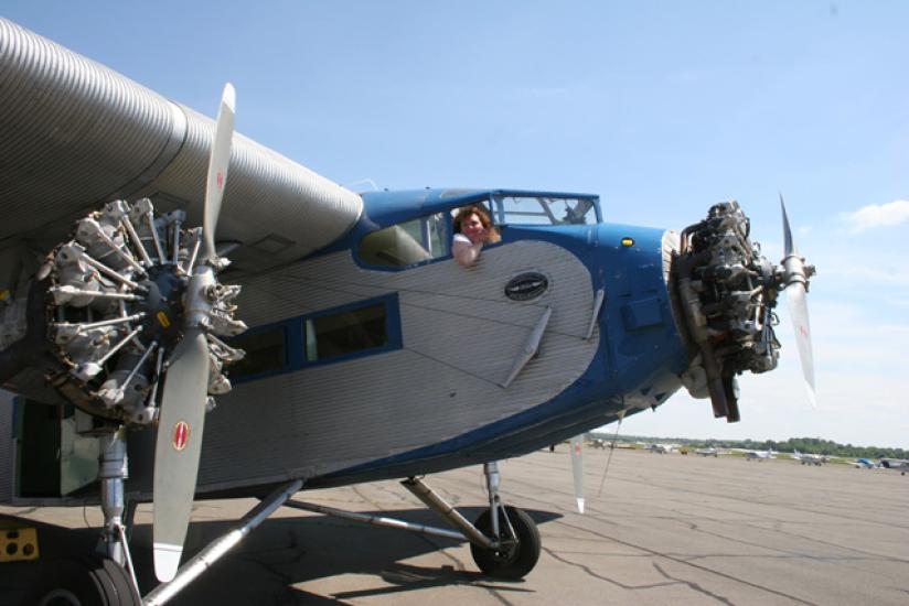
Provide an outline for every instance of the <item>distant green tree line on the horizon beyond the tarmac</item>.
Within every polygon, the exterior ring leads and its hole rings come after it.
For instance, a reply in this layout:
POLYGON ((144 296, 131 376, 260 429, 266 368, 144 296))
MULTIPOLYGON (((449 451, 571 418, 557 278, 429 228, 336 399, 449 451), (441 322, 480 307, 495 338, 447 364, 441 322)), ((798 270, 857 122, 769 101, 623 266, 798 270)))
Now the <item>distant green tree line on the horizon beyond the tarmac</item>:
MULTIPOLYGON (((596 434, 596 437, 611 440, 612 435, 596 434)), ((652 437, 641 435, 620 435, 620 442, 675 442, 695 448, 747 448, 752 451, 792 452, 819 454, 825 456, 843 456, 851 458, 909 458, 909 451, 881 446, 853 446, 838 444, 821 437, 790 437, 778 442, 776 440, 692 440, 687 437, 652 437)))

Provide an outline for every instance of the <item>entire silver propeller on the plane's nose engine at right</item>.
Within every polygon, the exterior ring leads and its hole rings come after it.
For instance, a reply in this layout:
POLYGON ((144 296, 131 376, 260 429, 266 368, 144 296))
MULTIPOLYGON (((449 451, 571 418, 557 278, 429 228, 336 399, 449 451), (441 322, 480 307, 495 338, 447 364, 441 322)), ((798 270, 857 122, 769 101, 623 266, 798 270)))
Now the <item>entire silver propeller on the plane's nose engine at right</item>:
POLYGON ((814 274, 813 266, 805 266, 803 257, 799 256, 795 245, 792 241, 792 230, 789 227, 789 217, 785 214, 785 203, 780 194, 780 208, 783 214, 783 239, 784 257, 781 262, 783 267, 783 288, 789 306, 789 315, 792 317, 792 327, 795 332, 795 345, 799 348, 799 358, 802 362, 802 375, 805 380, 808 399, 812 408, 817 408, 817 399, 814 390, 814 356, 811 350, 811 324, 808 315, 808 279, 814 274))

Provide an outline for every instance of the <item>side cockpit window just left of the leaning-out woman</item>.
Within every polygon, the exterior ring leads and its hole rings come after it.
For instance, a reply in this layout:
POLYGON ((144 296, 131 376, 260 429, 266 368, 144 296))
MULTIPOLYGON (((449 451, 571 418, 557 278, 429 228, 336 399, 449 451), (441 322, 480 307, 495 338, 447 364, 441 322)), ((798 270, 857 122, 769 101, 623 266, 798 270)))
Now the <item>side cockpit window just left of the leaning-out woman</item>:
POLYGON ((357 255, 365 264, 399 268, 447 256, 448 240, 445 214, 436 213, 373 231, 360 240, 357 255))

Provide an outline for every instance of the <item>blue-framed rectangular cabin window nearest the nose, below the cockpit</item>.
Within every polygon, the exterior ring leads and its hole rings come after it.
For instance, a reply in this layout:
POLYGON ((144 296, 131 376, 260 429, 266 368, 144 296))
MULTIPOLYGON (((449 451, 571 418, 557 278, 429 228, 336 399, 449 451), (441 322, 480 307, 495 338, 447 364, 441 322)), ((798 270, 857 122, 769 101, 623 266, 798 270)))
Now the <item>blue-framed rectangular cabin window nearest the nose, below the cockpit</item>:
POLYGON ((328 313, 304 321, 307 361, 383 347, 388 343, 385 303, 328 313))

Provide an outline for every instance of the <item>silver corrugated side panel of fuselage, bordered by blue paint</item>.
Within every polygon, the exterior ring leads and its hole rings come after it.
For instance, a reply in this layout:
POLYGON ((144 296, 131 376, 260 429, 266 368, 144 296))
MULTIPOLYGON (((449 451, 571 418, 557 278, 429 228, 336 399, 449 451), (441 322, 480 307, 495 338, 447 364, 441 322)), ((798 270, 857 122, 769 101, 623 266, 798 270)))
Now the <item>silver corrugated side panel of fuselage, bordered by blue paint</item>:
POLYGON ((339 252, 244 284, 250 325, 397 292, 403 348, 242 383, 206 419, 200 485, 325 474, 407 452, 544 403, 589 366, 585 340, 593 292, 587 269, 545 242, 491 248, 400 272, 357 267, 339 252), (504 285, 524 271, 549 278, 539 299, 515 302, 504 285), (507 388, 514 359, 545 307, 541 354, 507 388))

